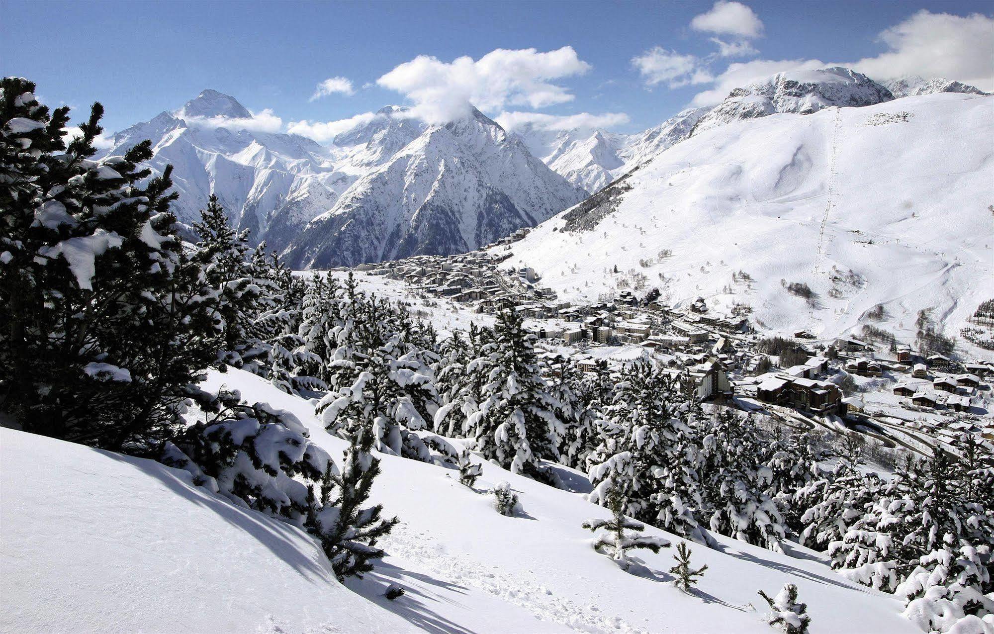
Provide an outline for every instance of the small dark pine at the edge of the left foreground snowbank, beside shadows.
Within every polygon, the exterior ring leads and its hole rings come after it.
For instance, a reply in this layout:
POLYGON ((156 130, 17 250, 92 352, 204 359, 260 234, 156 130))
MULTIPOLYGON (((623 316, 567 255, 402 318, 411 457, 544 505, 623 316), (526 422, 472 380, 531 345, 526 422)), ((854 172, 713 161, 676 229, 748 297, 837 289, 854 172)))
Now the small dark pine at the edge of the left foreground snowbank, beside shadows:
POLYGON ((398 523, 397 518, 383 519, 381 504, 362 508, 380 473, 380 460, 373 457, 372 448, 373 435, 358 429, 345 452, 341 474, 332 472, 327 478, 333 483, 333 492, 328 495, 322 490, 326 503, 309 522, 339 579, 362 577, 372 570, 370 561, 384 555, 377 542, 398 523))

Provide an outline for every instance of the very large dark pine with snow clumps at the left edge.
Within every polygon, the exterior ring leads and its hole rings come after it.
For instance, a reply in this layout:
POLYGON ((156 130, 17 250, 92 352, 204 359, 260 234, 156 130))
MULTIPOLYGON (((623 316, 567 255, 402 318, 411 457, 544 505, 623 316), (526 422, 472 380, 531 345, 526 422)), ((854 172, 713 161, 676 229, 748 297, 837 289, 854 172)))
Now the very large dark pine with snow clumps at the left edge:
POLYGON ((67 144, 25 79, 0 84, 0 382, 25 429, 155 452, 215 358, 213 300, 168 213, 148 142, 92 161, 103 108, 67 144))

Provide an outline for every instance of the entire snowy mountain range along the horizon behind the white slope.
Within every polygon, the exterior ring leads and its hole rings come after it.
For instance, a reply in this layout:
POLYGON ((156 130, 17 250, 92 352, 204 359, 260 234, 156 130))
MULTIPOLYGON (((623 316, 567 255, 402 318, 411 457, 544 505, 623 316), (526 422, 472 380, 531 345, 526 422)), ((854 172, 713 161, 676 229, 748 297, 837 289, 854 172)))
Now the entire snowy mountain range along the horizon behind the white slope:
POLYGON ((780 113, 863 106, 933 92, 984 94, 947 79, 878 83, 848 69, 780 73, 636 134, 511 131, 479 110, 429 126, 388 105, 328 145, 252 129, 235 97, 206 89, 112 137, 106 154, 151 139, 153 171, 174 166, 192 223, 211 194, 253 242, 299 268, 471 250, 573 207, 661 152, 708 129, 780 113))

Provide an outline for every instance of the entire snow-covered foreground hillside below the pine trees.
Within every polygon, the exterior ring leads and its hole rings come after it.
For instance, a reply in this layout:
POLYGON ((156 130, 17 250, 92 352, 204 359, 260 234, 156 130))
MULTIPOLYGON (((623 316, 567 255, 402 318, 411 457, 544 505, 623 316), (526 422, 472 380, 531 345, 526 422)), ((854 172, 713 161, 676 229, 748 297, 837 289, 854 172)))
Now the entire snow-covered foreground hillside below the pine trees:
MULTIPOLYGON (((323 430, 312 402, 238 370, 205 387, 222 385, 292 411, 341 456, 345 442, 323 430)), ((402 523, 384 542, 389 556, 345 588, 312 538, 193 486, 185 471, 10 429, 0 429, 0 457, 3 631, 767 634, 756 591, 785 582, 808 604, 812 634, 917 631, 899 599, 806 551, 721 537, 718 550, 693 546, 709 568, 692 594, 669 582, 674 549, 622 571, 580 528, 605 509, 489 463, 474 492, 452 470, 382 456, 374 498, 402 523), (521 499, 515 517, 485 495, 501 481, 521 499), (387 600, 390 583, 407 594, 387 600)))

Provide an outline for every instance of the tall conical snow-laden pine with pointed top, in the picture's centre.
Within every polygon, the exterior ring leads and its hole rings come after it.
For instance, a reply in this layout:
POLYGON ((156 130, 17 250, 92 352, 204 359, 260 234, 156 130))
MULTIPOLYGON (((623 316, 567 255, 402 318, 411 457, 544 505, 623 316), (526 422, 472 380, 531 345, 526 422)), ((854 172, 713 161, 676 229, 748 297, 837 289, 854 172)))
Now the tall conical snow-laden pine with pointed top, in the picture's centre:
POLYGON ((555 473, 539 460, 559 458, 563 424, 542 376, 534 338, 524 331, 516 311, 500 312, 494 341, 483 347, 484 360, 470 364, 471 372, 480 366, 489 372, 479 408, 468 416, 467 435, 475 439, 477 451, 500 466, 556 484, 555 473))

